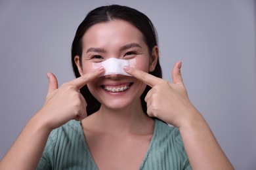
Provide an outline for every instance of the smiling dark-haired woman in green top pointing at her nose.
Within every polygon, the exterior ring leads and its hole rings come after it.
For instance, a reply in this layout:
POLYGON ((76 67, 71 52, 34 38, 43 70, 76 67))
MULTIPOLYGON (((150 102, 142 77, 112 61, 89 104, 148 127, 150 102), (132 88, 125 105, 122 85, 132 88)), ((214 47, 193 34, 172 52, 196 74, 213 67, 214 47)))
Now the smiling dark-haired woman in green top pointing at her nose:
POLYGON ((72 44, 77 78, 58 88, 47 74, 45 105, 1 169, 233 169, 188 99, 181 62, 167 82, 158 56, 154 25, 141 12, 119 5, 89 12, 72 44), (110 58, 133 59, 122 68, 131 76, 94 67, 110 58))

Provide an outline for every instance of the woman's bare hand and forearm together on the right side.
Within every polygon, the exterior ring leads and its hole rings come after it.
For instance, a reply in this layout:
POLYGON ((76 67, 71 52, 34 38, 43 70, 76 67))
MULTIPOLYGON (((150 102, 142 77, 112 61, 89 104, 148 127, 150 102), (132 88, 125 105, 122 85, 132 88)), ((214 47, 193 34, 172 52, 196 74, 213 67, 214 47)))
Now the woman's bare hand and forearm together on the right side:
POLYGON ((203 116, 188 99, 181 62, 173 67, 173 83, 138 69, 124 70, 152 87, 145 97, 148 115, 179 127, 192 169, 234 169, 203 116))

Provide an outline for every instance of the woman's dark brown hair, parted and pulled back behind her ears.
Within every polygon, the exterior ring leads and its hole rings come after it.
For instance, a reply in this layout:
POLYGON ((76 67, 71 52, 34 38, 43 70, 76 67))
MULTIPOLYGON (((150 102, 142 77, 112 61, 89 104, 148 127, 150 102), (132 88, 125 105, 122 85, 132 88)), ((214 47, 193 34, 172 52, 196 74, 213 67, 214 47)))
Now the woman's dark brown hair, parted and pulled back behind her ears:
MULTIPOLYGON (((85 17, 83 22, 81 22, 75 33, 74 41, 72 43, 72 66, 76 77, 79 77, 80 74, 77 69, 77 65, 75 64, 75 56, 79 56, 81 63, 83 35, 92 25, 102 22, 109 22, 111 20, 125 20, 137 27, 137 29, 139 29, 144 35, 144 41, 148 46, 149 54, 152 54, 154 46, 158 46, 158 36, 154 25, 152 24, 150 19, 139 10, 120 5, 98 7, 94 10, 91 10, 91 12, 87 14, 87 16, 85 17)), ((150 72, 150 74, 161 78, 162 73, 159 59, 156 64, 155 70, 150 72)), ((150 86, 146 86, 144 92, 140 96, 142 109, 145 113, 146 102, 144 101, 144 97, 150 89, 150 86)), ((95 99, 95 97, 93 97, 91 92, 89 92, 87 86, 85 85, 83 88, 81 88, 80 92, 87 101, 87 114, 90 115, 93 114, 93 112, 96 112, 100 108, 100 103, 95 99)))

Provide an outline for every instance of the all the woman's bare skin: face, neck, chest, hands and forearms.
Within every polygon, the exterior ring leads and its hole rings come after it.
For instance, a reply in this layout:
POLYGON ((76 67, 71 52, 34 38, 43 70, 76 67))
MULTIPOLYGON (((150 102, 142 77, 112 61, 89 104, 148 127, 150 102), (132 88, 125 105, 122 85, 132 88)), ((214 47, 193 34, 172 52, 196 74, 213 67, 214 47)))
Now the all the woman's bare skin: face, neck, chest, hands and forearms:
POLYGON ((179 127, 193 169, 233 169, 211 129, 188 98, 181 62, 173 67, 173 82, 149 75, 148 71, 156 66, 158 47, 150 54, 136 27, 122 20, 93 25, 83 36, 81 58, 80 63, 79 56, 75 57, 81 77, 60 88, 56 77, 47 74, 49 92, 45 105, 24 127, 1 160, 0 169, 35 169, 51 131, 72 119, 81 120, 87 144, 100 169, 138 169, 154 131, 150 116, 179 127), (127 48, 127 44, 139 46, 127 48), (104 68, 92 68, 93 62, 111 57, 135 58, 135 68, 123 68, 132 76, 100 76, 104 68), (102 103, 91 116, 87 116, 87 103, 79 93, 85 84, 102 103), (106 92, 102 88, 123 84, 132 86, 121 93, 106 92), (152 87, 145 97, 148 116, 142 111, 139 99, 146 84, 152 87))

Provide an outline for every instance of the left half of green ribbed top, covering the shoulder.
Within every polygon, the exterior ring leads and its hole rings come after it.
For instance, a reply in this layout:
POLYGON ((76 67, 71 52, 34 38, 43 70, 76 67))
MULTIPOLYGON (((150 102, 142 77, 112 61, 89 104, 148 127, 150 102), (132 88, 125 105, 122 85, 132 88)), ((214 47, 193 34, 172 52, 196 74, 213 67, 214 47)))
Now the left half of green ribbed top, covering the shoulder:
POLYGON ((38 169, 52 169, 52 167, 55 169, 95 167, 80 122, 70 120, 51 132, 38 169))

